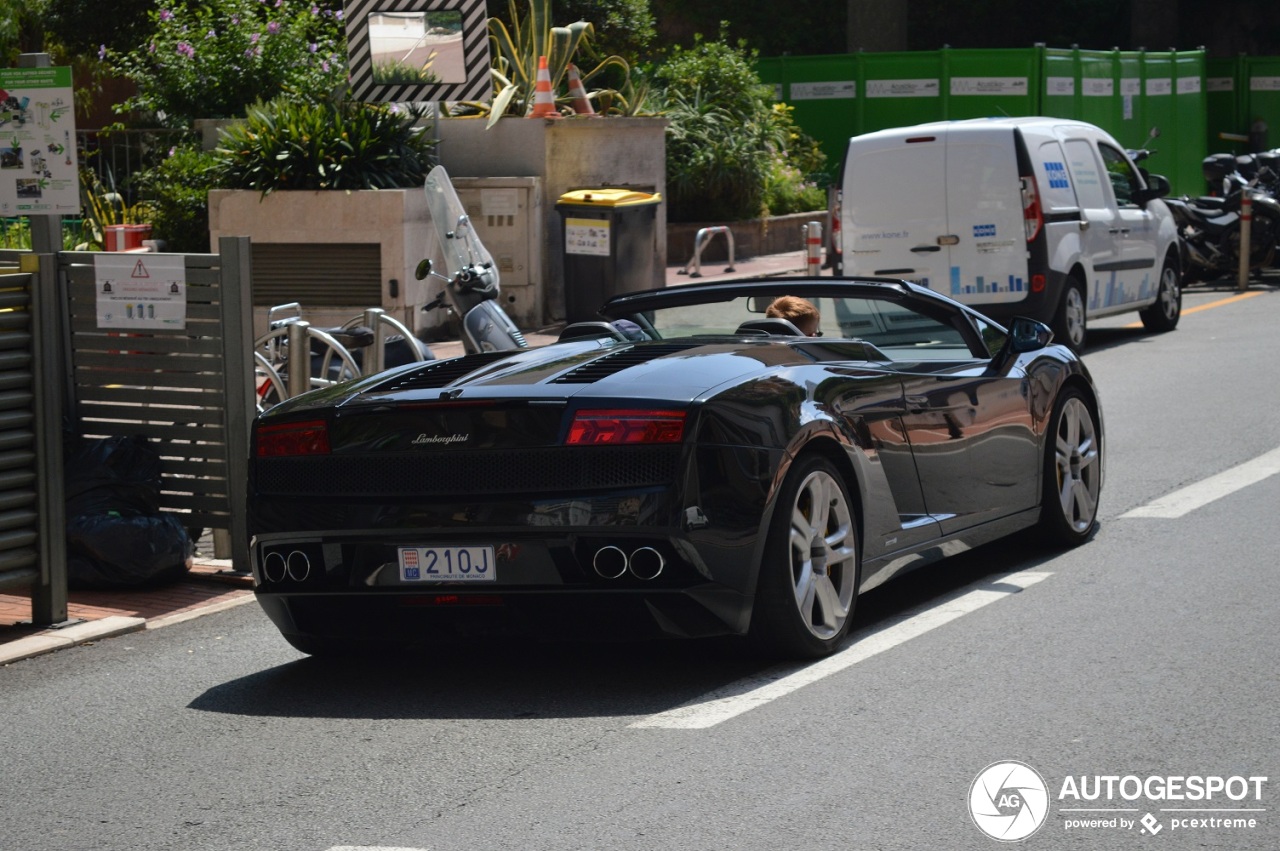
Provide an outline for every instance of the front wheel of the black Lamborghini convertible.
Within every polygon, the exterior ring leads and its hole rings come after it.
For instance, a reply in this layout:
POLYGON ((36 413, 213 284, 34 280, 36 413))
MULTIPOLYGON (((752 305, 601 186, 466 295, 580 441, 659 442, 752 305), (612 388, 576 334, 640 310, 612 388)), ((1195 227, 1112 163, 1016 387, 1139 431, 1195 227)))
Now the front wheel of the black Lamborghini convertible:
POLYGON ((1050 544, 1075 546, 1088 540, 1097 526, 1101 434, 1097 413, 1084 393, 1076 388, 1062 390, 1044 433, 1039 531, 1050 544))

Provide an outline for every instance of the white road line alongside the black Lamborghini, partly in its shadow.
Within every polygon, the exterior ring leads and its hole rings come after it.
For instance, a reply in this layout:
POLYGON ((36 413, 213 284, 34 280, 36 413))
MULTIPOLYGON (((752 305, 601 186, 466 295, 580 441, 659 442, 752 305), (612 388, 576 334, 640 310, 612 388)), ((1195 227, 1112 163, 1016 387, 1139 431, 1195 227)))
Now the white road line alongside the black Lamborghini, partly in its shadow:
POLYGON ((763 706, 771 700, 777 700, 824 677, 840 673, 845 668, 896 648, 964 614, 975 612, 988 603, 1016 594, 1050 576, 1052 573, 1043 571, 1019 571, 997 576, 972 591, 931 605, 918 614, 909 614, 876 632, 855 636, 846 649, 820 662, 799 669, 787 665, 764 671, 759 676, 739 680, 723 688, 717 688, 684 706, 643 718, 630 727, 662 729, 714 727, 756 706, 763 706))

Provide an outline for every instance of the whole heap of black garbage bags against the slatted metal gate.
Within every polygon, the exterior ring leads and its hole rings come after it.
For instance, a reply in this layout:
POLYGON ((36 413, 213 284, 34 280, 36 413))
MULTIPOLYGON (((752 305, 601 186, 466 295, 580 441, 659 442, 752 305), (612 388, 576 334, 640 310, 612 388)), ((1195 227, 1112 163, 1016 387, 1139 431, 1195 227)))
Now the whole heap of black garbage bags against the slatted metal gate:
POLYGON ((195 544, 160 512, 160 454, 146 438, 69 441, 67 580, 74 589, 159 585, 191 569, 195 544))

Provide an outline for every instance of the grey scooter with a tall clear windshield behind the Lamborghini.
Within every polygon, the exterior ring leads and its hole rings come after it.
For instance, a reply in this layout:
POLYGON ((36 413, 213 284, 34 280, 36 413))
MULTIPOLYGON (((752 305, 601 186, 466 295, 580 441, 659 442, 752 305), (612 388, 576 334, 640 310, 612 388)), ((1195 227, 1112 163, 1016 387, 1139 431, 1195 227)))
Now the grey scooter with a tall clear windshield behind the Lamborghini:
POLYGON ((436 278, 444 289, 422 310, 448 310, 462 326, 462 348, 468 354, 529 348, 525 335, 498 303, 498 267, 480 242, 471 219, 449 180, 438 165, 426 175, 426 206, 440 241, 448 275, 434 271, 430 257, 417 264, 415 278, 436 278))

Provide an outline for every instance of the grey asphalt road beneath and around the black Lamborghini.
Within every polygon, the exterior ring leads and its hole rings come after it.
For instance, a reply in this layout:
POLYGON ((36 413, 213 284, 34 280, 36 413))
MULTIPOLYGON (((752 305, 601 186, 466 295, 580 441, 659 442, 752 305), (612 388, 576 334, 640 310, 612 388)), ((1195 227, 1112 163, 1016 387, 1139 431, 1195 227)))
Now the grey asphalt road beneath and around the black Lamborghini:
POLYGON ((890 584, 832 660, 333 664, 241 607, 0 668, 0 848, 1280 848, 1280 290, 1234 296, 1094 325, 1091 543, 890 584))

